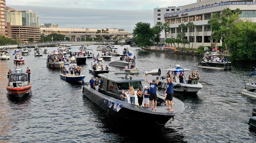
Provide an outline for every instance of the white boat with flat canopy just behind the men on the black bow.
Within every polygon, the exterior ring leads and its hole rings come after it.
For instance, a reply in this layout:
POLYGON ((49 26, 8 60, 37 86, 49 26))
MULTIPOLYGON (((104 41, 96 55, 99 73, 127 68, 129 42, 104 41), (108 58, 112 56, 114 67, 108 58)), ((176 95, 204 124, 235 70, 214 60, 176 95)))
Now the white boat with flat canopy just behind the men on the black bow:
MULTIPOLYGON (((174 83, 173 83, 174 92, 196 94, 201 88, 203 88, 202 84, 199 82, 197 84, 188 84, 188 80, 185 80, 184 71, 188 71, 190 69, 184 69, 180 67, 180 65, 176 65, 176 68, 170 68, 165 70, 170 71, 170 74, 174 74, 174 83), (180 83, 180 80, 178 78, 181 72, 184 75, 184 83, 180 83)), ((162 79, 160 80, 157 87, 158 89, 161 89, 161 88, 166 89, 166 85, 167 85, 167 80, 162 79)))

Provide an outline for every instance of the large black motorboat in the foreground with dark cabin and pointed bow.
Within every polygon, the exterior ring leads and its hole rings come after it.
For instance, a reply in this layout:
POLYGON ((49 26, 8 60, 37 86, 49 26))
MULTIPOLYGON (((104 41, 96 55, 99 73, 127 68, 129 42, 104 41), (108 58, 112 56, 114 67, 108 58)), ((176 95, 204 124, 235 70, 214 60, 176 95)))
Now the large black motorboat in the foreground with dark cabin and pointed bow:
MULTIPOLYGON (((133 86, 135 94, 137 88, 143 90, 143 78, 132 76, 128 74, 99 74, 101 84, 98 91, 90 86, 83 86, 83 96, 98 105, 106 114, 113 116, 113 118, 120 118, 127 120, 127 122, 139 122, 140 124, 147 124, 148 126, 163 128, 165 124, 174 116, 182 114, 186 106, 182 101, 173 98, 174 111, 170 112, 165 109, 167 106, 157 105, 157 109, 150 109, 150 107, 139 107, 137 96, 135 96, 135 105, 130 103, 130 99, 121 99, 121 91, 128 90, 129 86, 133 86), (150 120, 145 120, 150 119, 150 120)), ((158 99, 165 97, 157 94, 158 99)), ((143 104, 142 104, 143 105, 143 104)))

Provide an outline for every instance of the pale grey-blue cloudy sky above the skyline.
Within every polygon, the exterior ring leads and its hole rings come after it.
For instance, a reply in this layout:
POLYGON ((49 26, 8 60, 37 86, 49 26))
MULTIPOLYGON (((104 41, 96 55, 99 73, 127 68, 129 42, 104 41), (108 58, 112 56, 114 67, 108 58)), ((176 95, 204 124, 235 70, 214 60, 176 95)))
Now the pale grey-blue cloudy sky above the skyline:
POLYGON ((196 0, 6 0, 19 11, 32 10, 39 23, 59 24, 59 28, 124 29, 138 22, 154 26, 154 8, 183 6, 196 0))

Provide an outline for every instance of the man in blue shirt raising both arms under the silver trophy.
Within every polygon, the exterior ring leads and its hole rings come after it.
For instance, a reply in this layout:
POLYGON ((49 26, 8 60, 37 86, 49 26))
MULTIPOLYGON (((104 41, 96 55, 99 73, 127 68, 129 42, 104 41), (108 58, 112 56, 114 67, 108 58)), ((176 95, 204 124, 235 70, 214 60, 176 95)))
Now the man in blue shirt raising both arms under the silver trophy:
POLYGON ((156 80, 152 80, 152 82, 150 82, 148 80, 148 74, 146 75, 146 80, 147 80, 148 84, 150 84, 150 101, 151 101, 151 106, 152 106, 150 109, 154 108, 154 102, 153 102, 153 100, 154 100, 155 101, 155 110, 156 110, 156 105, 157 105, 156 88, 160 81, 160 77, 161 77, 161 75, 159 75, 157 82, 156 82, 156 80))

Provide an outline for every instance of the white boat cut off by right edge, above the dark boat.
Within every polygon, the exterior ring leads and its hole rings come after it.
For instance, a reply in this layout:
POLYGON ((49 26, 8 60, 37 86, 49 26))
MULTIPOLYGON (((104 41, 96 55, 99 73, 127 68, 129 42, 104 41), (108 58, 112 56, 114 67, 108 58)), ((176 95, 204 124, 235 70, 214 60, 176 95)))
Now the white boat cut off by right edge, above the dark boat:
POLYGON ((252 80, 252 76, 256 76, 256 71, 248 73, 249 82, 241 88, 241 94, 256 98, 256 82, 252 80))

